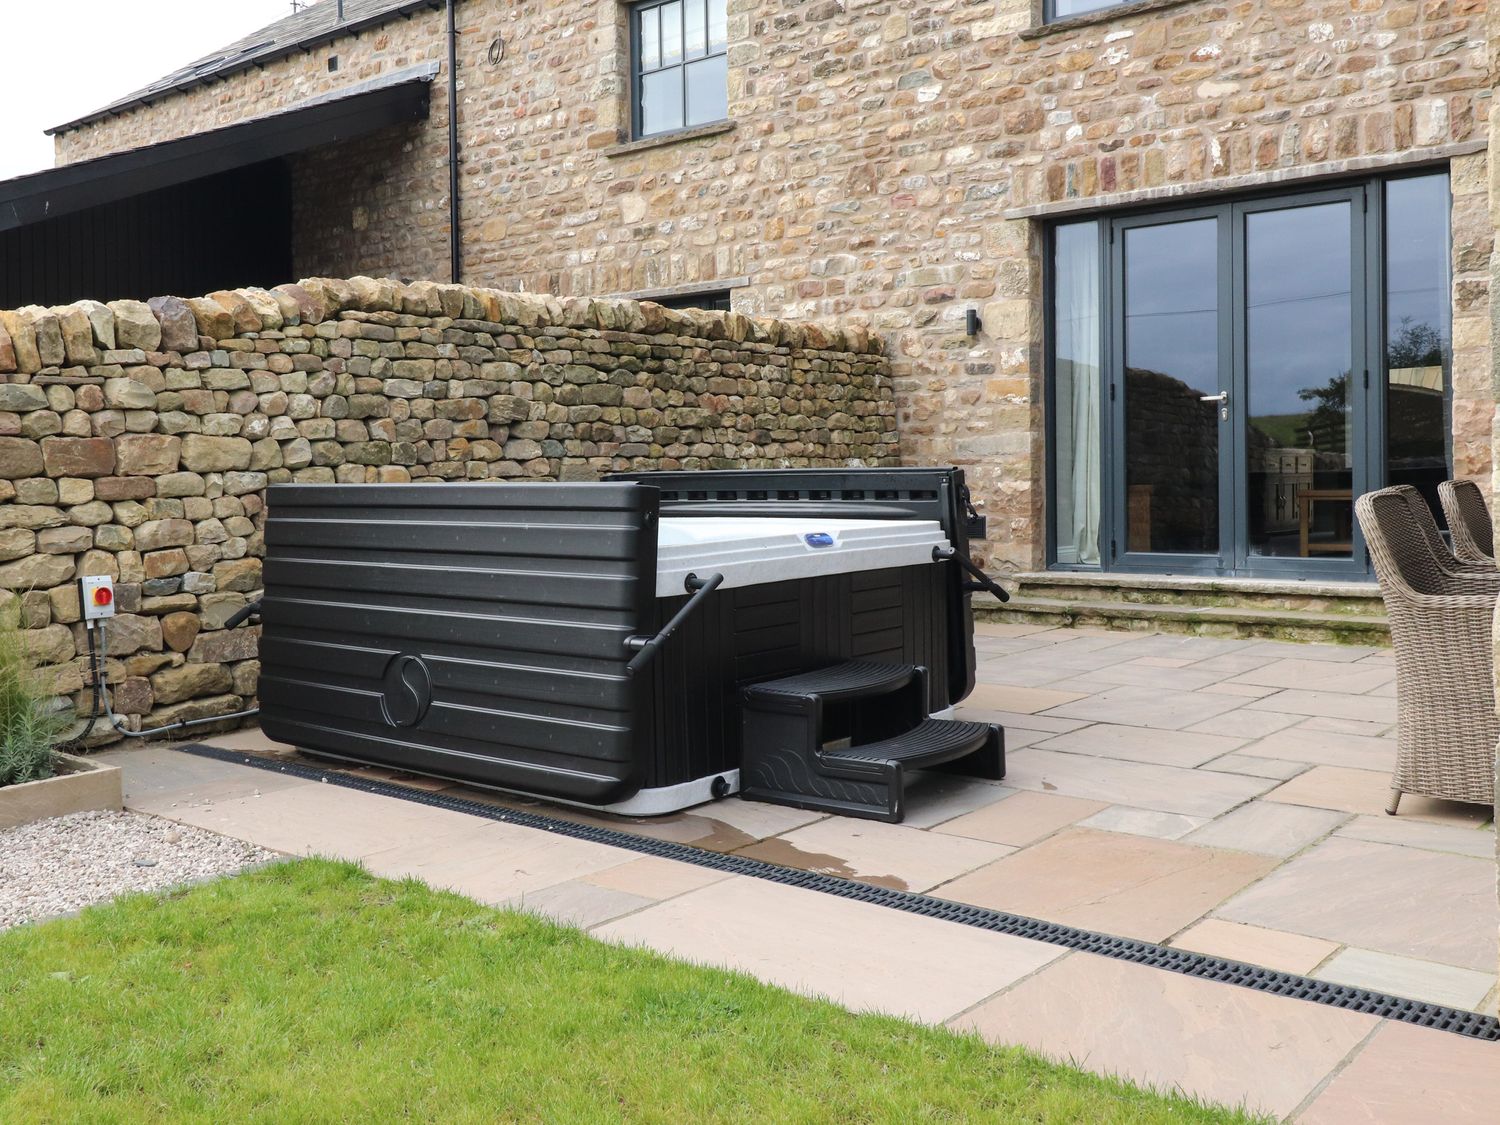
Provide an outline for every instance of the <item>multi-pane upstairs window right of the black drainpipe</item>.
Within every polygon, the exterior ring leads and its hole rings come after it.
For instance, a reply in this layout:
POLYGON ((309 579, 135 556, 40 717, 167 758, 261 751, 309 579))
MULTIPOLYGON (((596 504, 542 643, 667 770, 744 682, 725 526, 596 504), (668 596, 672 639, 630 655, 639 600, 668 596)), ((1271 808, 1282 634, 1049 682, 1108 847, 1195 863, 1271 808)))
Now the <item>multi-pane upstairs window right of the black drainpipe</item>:
POLYGON ((729 116, 726 0, 630 9, 634 135, 657 136, 729 116))

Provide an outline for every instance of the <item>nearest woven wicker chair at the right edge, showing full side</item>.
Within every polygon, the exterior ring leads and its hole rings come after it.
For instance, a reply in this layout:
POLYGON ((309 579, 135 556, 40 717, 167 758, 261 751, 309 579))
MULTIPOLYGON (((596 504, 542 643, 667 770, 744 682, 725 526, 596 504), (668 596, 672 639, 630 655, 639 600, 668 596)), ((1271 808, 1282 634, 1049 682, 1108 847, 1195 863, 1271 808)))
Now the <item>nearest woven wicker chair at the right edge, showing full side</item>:
POLYGON ((1402 794, 1494 804, 1500 570, 1444 567, 1410 492, 1382 489, 1354 502, 1396 657, 1396 768, 1386 812, 1395 814, 1402 794))

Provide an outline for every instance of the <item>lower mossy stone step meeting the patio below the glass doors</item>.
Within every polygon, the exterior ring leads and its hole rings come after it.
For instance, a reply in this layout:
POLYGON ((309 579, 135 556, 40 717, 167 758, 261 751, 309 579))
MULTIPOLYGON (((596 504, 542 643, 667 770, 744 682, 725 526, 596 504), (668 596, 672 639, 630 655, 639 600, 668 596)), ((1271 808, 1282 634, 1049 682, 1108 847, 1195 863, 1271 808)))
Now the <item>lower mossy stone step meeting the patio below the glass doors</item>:
POLYGON ((975 596, 974 614, 980 621, 1010 621, 1017 624, 1100 626, 1140 633, 1390 645, 1390 622, 1386 621, 1384 615, 1372 614, 1106 602, 1094 597, 1058 598, 1022 594, 1004 604, 990 597, 981 598, 975 596))

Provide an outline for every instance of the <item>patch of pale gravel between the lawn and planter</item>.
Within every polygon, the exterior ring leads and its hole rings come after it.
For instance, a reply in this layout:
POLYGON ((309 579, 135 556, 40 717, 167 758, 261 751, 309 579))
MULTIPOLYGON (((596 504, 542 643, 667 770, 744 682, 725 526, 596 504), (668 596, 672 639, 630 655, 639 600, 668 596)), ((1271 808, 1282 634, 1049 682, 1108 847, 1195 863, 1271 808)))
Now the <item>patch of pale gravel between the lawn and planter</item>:
POLYGON ((0 832, 0 930, 232 874, 274 852, 140 813, 74 813, 0 832))

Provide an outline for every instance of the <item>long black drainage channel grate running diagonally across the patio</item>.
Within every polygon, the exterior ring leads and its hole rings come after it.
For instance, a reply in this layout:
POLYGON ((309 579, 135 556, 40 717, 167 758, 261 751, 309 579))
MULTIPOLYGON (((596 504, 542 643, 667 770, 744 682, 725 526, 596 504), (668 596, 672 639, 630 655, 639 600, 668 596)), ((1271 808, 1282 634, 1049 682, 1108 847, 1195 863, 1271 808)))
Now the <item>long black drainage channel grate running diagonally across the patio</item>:
POLYGON ((612 848, 640 852, 642 855, 652 855, 662 860, 678 860, 696 867, 708 867, 716 872, 744 874, 752 879, 765 879, 768 882, 784 884, 788 886, 801 886, 807 891, 819 891, 822 894, 837 896, 838 898, 852 898, 861 903, 885 906, 892 910, 921 915, 922 918, 939 918, 946 922, 972 926, 976 930, 990 930, 992 933, 1005 933, 1014 938, 1029 938, 1030 940, 1046 942, 1047 945, 1059 945, 1065 950, 1078 950, 1082 952, 1095 952, 1101 957, 1113 957, 1120 962, 1149 964, 1156 969, 1179 972, 1185 976, 1200 976, 1209 981, 1238 984, 1244 988, 1268 992, 1274 996, 1290 996, 1299 1000, 1323 1004, 1330 1008, 1344 1008, 1346 1011, 1378 1016, 1386 1020, 1413 1023, 1419 1028, 1436 1028, 1438 1030, 1454 1032, 1455 1035, 1466 1035, 1473 1040, 1500 1042, 1500 1020, 1494 1016, 1480 1016, 1479 1012, 1462 1011, 1460 1008, 1444 1008, 1437 1004, 1408 1000, 1388 993, 1353 988, 1347 984, 1314 981, 1308 976, 1276 972, 1274 969, 1262 969, 1254 964, 1224 960, 1222 957, 1208 957, 1186 950, 1172 950, 1164 945, 1136 940, 1134 938, 1114 938, 1107 933, 1078 930, 1071 926, 1041 921, 1040 918, 1026 918, 1018 914, 1005 914, 1004 910, 990 910, 982 906, 969 906, 966 903, 952 903, 945 898, 933 898, 914 891, 896 891, 888 886, 874 886, 872 884, 855 882, 854 879, 842 879, 836 874, 802 872, 796 867, 782 867, 778 864, 765 862, 764 860, 750 860, 742 855, 708 852, 702 848, 693 848, 692 844, 676 843, 674 840, 654 840, 645 836, 633 836, 632 832, 626 832, 618 828, 600 828, 597 825, 576 824, 573 820, 562 820, 518 808, 501 808, 480 801, 466 801, 462 796, 448 796, 446 794, 429 794, 422 789, 411 789, 394 782, 376 782, 366 777, 351 777, 336 770, 320 770, 316 766, 302 765, 297 762, 279 762, 270 758, 256 758, 237 750, 220 750, 213 746, 192 744, 176 748, 183 753, 196 754, 198 758, 234 762, 255 770, 267 770, 270 772, 286 774, 290 777, 302 777, 309 782, 324 782, 345 789, 378 794, 380 796, 394 796, 400 801, 414 801, 417 804, 432 806, 434 808, 468 813, 471 816, 482 816, 488 820, 501 820, 522 828, 537 828, 543 832, 555 832, 574 840, 609 844, 612 848))

